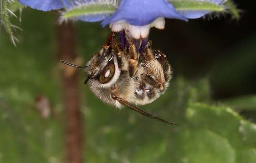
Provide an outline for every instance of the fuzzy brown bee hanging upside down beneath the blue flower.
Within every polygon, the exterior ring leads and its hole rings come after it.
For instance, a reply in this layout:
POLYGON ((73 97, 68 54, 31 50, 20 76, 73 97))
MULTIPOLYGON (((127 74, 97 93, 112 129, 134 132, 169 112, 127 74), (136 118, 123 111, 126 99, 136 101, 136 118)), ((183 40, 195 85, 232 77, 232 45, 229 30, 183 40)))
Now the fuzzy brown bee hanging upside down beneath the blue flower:
POLYGON ((177 125, 137 107, 155 101, 169 86, 172 71, 164 53, 151 48, 150 41, 138 53, 135 41, 128 35, 125 47, 116 42, 115 36, 116 33, 110 33, 106 43, 86 66, 61 62, 85 69, 87 78, 84 83, 105 103, 117 108, 126 106, 149 118, 177 125))

